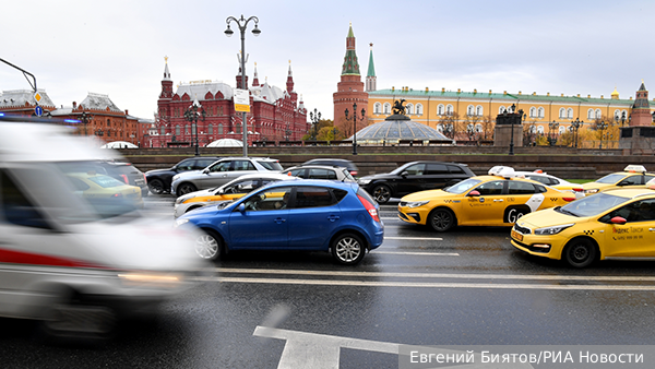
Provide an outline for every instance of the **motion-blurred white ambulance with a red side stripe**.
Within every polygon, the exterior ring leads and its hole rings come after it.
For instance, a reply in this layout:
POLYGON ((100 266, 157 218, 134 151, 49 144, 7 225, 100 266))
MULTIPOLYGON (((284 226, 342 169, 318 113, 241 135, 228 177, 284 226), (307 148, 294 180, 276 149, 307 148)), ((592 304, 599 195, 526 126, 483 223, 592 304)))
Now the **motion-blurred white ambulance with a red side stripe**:
POLYGON ((117 154, 41 121, 0 114, 0 317, 39 320, 55 337, 107 337, 120 318, 195 284, 196 234, 145 218, 127 197, 80 197, 70 163, 117 154))

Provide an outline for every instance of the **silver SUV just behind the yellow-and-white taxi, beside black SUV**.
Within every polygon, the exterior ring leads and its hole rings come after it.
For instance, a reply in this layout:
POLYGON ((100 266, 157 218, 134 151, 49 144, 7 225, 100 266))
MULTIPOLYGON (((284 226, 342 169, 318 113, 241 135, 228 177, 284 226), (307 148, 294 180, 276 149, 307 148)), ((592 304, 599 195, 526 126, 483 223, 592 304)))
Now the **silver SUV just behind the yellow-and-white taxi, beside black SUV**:
POLYGON ((203 170, 180 172, 172 177, 170 193, 178 197, 223 186, 233 179, 258 171, 281 171, 279 160, 267 157, 225 157, 203 170))

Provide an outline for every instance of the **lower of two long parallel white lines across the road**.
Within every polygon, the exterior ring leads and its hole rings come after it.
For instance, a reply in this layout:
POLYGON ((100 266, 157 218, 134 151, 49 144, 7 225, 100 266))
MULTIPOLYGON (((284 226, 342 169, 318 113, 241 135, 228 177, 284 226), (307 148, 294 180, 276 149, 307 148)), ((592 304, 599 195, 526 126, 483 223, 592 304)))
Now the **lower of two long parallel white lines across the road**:
POLYGON ((326 281, 326 279, 283 279, 283 278, 236 278, 199 277, 198 281, 221 283, 255 283, 306 286, 348 286, 348 287, 418 287, 418 288, 481 288, 481 289, 555 289, 555 290, 654 290, 655 286, 630 285, 538 285, 538 284, 491 284, 491 283, 418 283, 418 282, 373 282, 373 281, 326 281))

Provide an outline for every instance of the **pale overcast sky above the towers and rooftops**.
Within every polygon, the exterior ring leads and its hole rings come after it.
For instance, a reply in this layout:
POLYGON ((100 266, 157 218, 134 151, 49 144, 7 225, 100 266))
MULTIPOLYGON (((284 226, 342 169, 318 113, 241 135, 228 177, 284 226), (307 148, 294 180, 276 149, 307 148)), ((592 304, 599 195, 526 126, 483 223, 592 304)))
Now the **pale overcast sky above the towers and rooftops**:
MULTIPOLYGON (((655 1, 76 1, 2 4, 0 58, 36 76, 57 107, 88 92, 108 95, 130 115, 152 119, 164 57, 175 85, 212 80, 236 85, 239 31, 248 25, 246 71, 295 90, 309 110, 333 118, 348 25, 365 80, 373 43, 378 90, 634 96, 655 90, 655 1)), ((29 90, 0 63, 0 91, 29 90)), ((652 93, 655 97, 655 93, 652 93)))

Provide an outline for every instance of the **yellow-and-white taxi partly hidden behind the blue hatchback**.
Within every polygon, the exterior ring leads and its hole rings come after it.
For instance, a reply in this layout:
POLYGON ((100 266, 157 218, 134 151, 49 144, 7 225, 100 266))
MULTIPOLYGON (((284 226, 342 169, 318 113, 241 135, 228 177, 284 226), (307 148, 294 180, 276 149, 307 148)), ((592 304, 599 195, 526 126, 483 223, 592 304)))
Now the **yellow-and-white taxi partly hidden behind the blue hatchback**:
POLYGON ((226 201, 229 202, 240 199, 250 191, 271 182, 296 179, 300 178, 278 172, 260 171, 251 175, 245 175, 218 188, 215 187, 209 190, 200 190, 177 198, 175 201, 175 217, 177 218, 187 212, 205 205, 218 204, 226 201))

